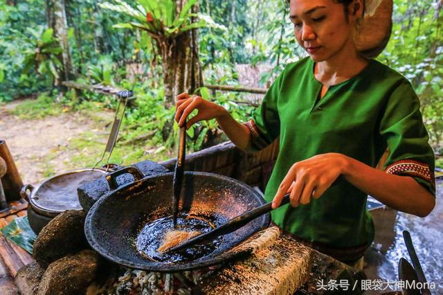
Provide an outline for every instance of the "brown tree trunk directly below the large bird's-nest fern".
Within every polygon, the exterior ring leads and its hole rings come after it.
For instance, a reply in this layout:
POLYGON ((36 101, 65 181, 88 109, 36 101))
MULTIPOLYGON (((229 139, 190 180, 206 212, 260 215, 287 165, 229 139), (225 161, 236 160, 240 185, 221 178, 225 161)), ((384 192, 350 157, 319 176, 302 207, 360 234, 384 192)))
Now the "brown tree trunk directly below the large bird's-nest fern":
MULTIPOLYGON (((177 11, 186 1, 177 0, 177 11)), ((198 12, 198 5, 192 12, 198 12)), ((175 105, 177 95, 183 91, 192 92, 201 86, 201 68, 199 62, 199 47, 197 30, 189 30, 178 37, 159 39, 158 45, 162 57, 163 84, 165 87, 165 107, 170 109, 175 105)))

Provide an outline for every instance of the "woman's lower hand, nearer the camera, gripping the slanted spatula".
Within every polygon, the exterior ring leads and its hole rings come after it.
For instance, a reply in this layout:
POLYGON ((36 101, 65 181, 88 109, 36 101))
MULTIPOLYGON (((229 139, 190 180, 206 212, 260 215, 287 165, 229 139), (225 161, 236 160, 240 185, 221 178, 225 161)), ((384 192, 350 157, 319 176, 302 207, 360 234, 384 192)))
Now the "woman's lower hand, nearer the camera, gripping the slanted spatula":
POLYGON ((272 208, 280 206, 285 194, 291 193, 291 206, 308 204, 318 199, 339 177, 346 164, 346 156, 338 153, 318 154, 289 168, 272 200, 272 208))

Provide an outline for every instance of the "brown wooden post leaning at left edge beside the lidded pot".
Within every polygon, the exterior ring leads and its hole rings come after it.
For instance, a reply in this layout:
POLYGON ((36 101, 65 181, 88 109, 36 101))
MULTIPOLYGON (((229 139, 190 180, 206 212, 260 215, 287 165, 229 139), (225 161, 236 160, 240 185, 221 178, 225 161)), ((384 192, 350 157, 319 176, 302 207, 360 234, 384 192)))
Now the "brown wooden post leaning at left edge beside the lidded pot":
POLYGON ((0 157, 6 162, 6 175, 1 178, 1 184, 3 184, 3 190, 6 195, 6 201, 17 201, 21 199, 20 190, 23 186, 21 181, 19 171, 15 166, 14 159, 8 150, 8 145, 6 141, 0 139, 0 157))

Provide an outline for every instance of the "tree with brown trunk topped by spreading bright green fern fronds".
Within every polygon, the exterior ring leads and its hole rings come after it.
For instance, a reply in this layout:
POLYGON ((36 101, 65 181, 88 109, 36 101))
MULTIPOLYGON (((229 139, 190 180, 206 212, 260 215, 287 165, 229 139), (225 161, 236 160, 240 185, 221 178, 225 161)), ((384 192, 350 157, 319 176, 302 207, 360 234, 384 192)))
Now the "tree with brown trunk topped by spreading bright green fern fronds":
POLYGON ((121 0, 101 3, 107 8, 129 15, 136 22, 116 24, 116 28, 145 30, 161 56, 165 107, 171 108, 182 91, 202 84, 197 28, 216 26, 210 17, 199 14, 197 0, 137 0, 137 8, 121 0))

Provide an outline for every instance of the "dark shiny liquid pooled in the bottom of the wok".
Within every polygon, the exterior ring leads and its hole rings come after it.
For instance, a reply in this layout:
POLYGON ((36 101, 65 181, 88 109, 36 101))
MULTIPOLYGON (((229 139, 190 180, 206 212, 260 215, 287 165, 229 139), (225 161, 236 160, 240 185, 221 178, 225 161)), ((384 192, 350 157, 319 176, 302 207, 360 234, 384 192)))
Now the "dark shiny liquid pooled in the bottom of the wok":
POLYGON ((159 218, 146 224, 138 233, 136 248, 139 253, 161 262, 186 262, 204 257, 212 253, 221 243, 221 237, 207 243, 197 244, 180 251, 159 251, 165 242, 165 235, 170 231, 199 231, 206 233, 215 228, 208 217, 180 214, 174 228, 172 216, 159 218))

